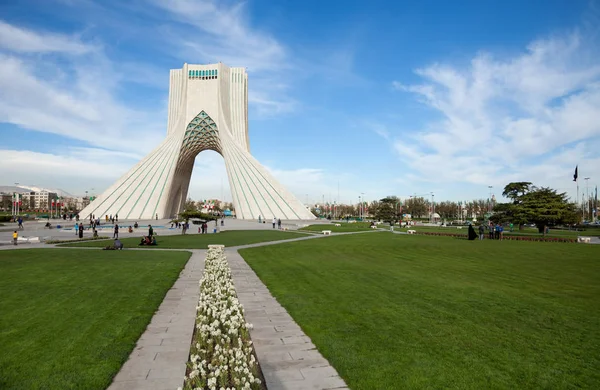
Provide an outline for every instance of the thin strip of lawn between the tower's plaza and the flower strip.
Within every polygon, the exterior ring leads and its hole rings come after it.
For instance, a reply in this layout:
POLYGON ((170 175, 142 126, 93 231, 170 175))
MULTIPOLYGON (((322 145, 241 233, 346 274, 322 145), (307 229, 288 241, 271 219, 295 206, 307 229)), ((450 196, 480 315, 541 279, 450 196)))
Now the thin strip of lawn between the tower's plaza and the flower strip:
MULTIPOLYGON (((144 233, 147 234, 147 232, 144 233)), ((140 234, 138 232, 135 237, 122 238, 121 242, 125 248, 137 248, 144 233, 140 234)), ((129 233, 121 234, 121 237, 127 237, 128 234, 129 233)), ((285 232, 280 230, 230 230, 218 234, 178 234, 175 236, 157 236, 157 246, 140 246, 139 248, 205 249, 208 247, 208 245, 213 244, 238 246, 255 244, 257 242, 289 240, 304 236, 306 236, 305 233, 285 232)), ((69 243, 62 246, 105 247, 111 243, 112 240, 98 240, 69 243)))

